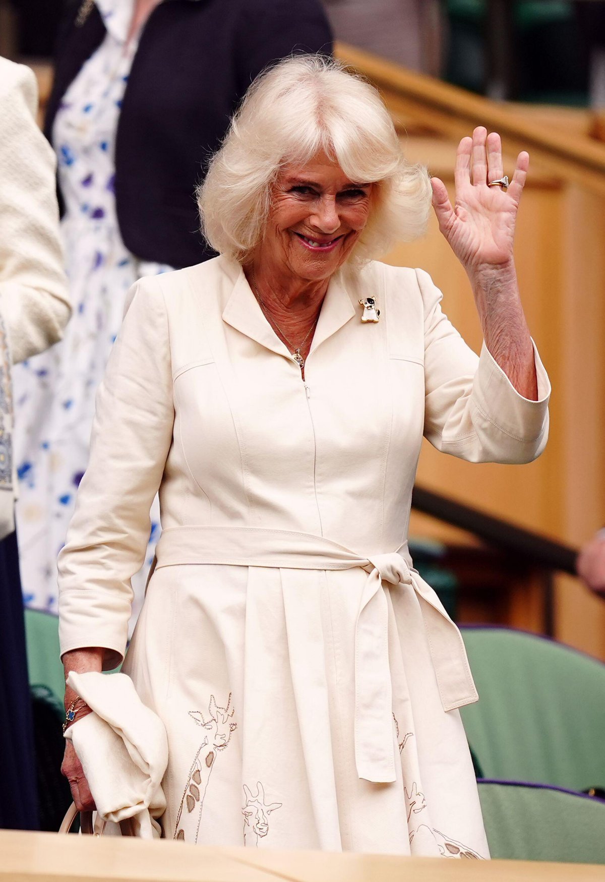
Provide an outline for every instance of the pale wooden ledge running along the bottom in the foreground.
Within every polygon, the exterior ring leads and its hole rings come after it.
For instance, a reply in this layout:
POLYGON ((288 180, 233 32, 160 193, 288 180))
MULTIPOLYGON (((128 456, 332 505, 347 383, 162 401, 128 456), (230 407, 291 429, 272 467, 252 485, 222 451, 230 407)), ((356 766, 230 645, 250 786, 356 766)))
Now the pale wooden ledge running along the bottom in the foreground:
POLYGON ((205 848, 172 841, 0 830, 6 882, 596 882, 603 868, 537 861, 205 848))

